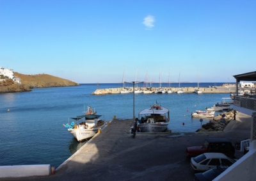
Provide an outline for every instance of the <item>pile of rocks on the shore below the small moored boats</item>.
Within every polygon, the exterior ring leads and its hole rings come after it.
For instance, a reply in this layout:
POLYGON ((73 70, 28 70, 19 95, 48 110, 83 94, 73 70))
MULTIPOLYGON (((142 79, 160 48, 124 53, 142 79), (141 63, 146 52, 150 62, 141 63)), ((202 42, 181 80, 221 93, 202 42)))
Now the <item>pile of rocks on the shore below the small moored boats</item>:
MULTIPOLYGON (((236 114, 238 111, 236 111, 236 114)), ((209 132, 209 131, 222 131, 228 125, 230 120, 234 118, 234 110, 218 114, 209 123, 202 125, 202 129, 196 130, 196 132, 209 132), (225 114, 225 122, 222 123, 222 115, 225 114)))

